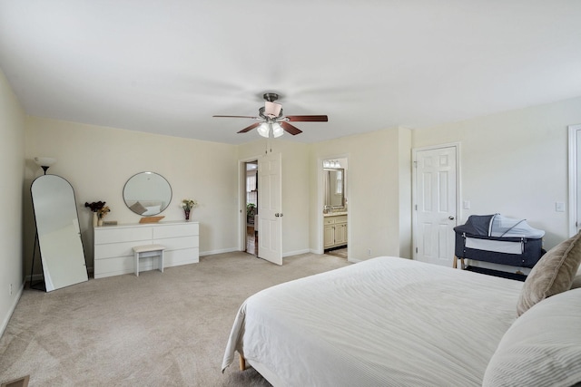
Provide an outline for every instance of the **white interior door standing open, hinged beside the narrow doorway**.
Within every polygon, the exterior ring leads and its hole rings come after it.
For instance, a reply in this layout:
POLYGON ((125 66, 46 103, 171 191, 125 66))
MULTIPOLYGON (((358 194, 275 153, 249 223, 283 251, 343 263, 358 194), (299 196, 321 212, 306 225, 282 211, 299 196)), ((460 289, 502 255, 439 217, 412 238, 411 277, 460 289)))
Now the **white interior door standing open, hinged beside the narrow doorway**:
POLYGON ((258 160, 258 256, 282 265, 281 153, 258 160))

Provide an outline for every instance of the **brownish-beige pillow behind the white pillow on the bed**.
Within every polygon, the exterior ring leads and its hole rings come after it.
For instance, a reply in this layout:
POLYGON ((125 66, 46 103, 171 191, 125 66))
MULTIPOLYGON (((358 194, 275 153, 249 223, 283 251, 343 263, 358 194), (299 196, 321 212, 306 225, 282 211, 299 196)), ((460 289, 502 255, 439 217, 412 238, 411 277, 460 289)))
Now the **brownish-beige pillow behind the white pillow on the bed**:
POLYGON ((571 288, 581 262, 581 233, 547 251, 525 280, 517 303, 517 314, 551 295, 571 288))

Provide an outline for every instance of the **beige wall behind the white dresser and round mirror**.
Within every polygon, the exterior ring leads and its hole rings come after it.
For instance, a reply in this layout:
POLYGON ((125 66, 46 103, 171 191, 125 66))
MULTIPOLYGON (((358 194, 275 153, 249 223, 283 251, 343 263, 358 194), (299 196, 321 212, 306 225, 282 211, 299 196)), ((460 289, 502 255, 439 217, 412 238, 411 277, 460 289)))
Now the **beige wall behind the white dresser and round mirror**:
MULTIPOLYGON (((238 248, 238 178, 233 145, 28 117, 25 148, 27 187, 42 174, 32 161, 34 156, 55 157, 57 162, 49 173, 62 176, 73 186, 89 267, 93 266, 92 214, 84 203, 106 201, 111 208, 106 220, 138 222, 141 217, 123 203, 123 185, 145 170, 161 174, 172 186, 172 202, 161 214, 163 220, 183 218, 183 198, 200 202, 192 220, 200 222, 201 255, 238 248)), ((28 213, 27 265, 34 242, 30 209, 28 213)))

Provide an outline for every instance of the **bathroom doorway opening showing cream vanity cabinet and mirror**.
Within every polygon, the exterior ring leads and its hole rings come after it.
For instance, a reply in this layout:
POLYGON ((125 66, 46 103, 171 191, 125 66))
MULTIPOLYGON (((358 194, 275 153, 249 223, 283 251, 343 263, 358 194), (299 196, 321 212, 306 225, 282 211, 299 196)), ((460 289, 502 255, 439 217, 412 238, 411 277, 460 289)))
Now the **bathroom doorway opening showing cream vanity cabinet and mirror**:
POLYGON ((349 199, 347 158, 322 160, 322 243, 329 256, 348 258, 349 199))

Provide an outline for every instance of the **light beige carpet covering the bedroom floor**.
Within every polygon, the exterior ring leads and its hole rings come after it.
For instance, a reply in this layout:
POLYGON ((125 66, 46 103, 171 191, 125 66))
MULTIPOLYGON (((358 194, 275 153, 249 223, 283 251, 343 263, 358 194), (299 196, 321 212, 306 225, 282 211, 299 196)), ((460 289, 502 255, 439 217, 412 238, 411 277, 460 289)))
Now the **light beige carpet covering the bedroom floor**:
POLYGON ((30 374, 31 386, 268 386, 238 363, 221 372, 239 306, 271 285, 347 265, 304 254, 276 266, 228 253, 164 273, 26 289, 0 338, 0 382, 30 374))

